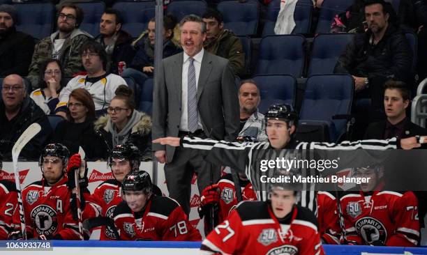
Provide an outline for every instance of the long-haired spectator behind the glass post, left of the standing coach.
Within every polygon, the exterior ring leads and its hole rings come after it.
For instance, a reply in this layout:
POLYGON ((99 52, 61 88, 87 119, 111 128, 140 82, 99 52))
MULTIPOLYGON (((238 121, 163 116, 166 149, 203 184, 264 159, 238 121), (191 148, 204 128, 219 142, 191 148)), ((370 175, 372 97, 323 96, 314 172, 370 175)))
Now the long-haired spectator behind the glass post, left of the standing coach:
MULTIPOLYGON (((177 20, 172 15, 163 17, 163 59, 181 52, 181 47, 174 42, 174 27, 177 20)), ((133 77, 137 84, 144 84, 148 77, 153 77, 154 73, 154 42, 156 40, 156 22, 151 19, 147 31, 132 42, 137 53, 130 63, 130 68, 126 68, 123 76, 133 77)))

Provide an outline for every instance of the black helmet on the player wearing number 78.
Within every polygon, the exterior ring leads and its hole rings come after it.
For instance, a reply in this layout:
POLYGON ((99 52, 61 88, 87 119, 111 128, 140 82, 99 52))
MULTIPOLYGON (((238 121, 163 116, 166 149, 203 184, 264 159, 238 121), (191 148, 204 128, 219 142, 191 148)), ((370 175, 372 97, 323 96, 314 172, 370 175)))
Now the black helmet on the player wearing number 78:
POLYGON ((121 190, 123 191, 142 191, 147 195, 153 192, 153 183, 149 173, 144 170, 130 172, 123 179, 121 183, 121 190))

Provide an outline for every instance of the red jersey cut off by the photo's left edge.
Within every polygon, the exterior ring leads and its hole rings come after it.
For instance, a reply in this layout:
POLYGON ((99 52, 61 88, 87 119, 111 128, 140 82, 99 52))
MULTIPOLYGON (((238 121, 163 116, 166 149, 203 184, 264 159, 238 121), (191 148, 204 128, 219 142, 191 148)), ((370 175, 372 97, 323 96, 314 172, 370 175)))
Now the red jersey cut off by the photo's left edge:
POLYGON ((13 213, 18 204, 15 183, 10 180, 0 180, 0 197, 0 240, 6 240, 15 227, 13 213))

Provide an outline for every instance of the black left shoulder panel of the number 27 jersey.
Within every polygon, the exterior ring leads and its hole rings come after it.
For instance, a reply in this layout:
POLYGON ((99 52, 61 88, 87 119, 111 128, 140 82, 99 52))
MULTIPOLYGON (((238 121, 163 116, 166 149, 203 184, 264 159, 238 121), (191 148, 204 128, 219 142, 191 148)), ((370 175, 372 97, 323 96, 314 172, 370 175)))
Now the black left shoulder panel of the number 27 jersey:
POLYGON ((267 202, 264 201, 242 201, 236 210, 240 215, 241 221, 251 219, 270 219, 267 202))

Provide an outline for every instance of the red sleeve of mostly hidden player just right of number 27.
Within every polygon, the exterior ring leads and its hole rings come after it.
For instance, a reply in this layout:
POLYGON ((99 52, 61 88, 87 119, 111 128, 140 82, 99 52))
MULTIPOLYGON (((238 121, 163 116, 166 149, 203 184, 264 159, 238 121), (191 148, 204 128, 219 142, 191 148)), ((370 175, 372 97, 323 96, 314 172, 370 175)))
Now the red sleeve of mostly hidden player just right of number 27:
POLYGON ((341 239, 336 198, 330 192, 317 192, 317 222, 323 242, 339 245, 341 239))

